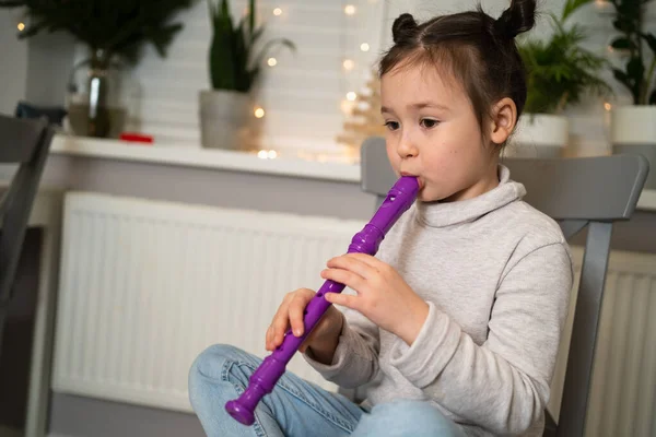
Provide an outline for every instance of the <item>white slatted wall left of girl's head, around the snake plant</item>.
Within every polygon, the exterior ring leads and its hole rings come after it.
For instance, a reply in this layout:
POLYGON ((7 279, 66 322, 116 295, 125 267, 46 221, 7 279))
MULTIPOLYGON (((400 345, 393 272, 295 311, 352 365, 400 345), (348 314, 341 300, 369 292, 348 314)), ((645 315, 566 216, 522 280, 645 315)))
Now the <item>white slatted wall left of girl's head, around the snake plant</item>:
MULTIPOLYGON (((278 60, 265 67, 257 105, 266 110, 261 120, 262 145, 267 149, 335 151, 335 137, 344 120, 341 104, 349 91, 359 91, 379 50, 383 0, 350 0, 356 13, 347 15, 347 2, 328 0, 258 1, 267 36, 286 37, 297 47, 272 52, 278 60), (273 15, 276 8, 282 14, 273 15), (370 51, 360 50, 362 43, 370 51), (348 72, 344 58, 355 61, 348 72)), ((246 1, 235 0, 241 15, 246 1)), ((160 59, 149 47, 133 72, 132 90, 138 127, 155 135, 159 144, 199 146, 198 92, 209 87, 208 47, 210 23, 204 1, 180 15, 185 28, 174 40, 168 57, 160 59)))

